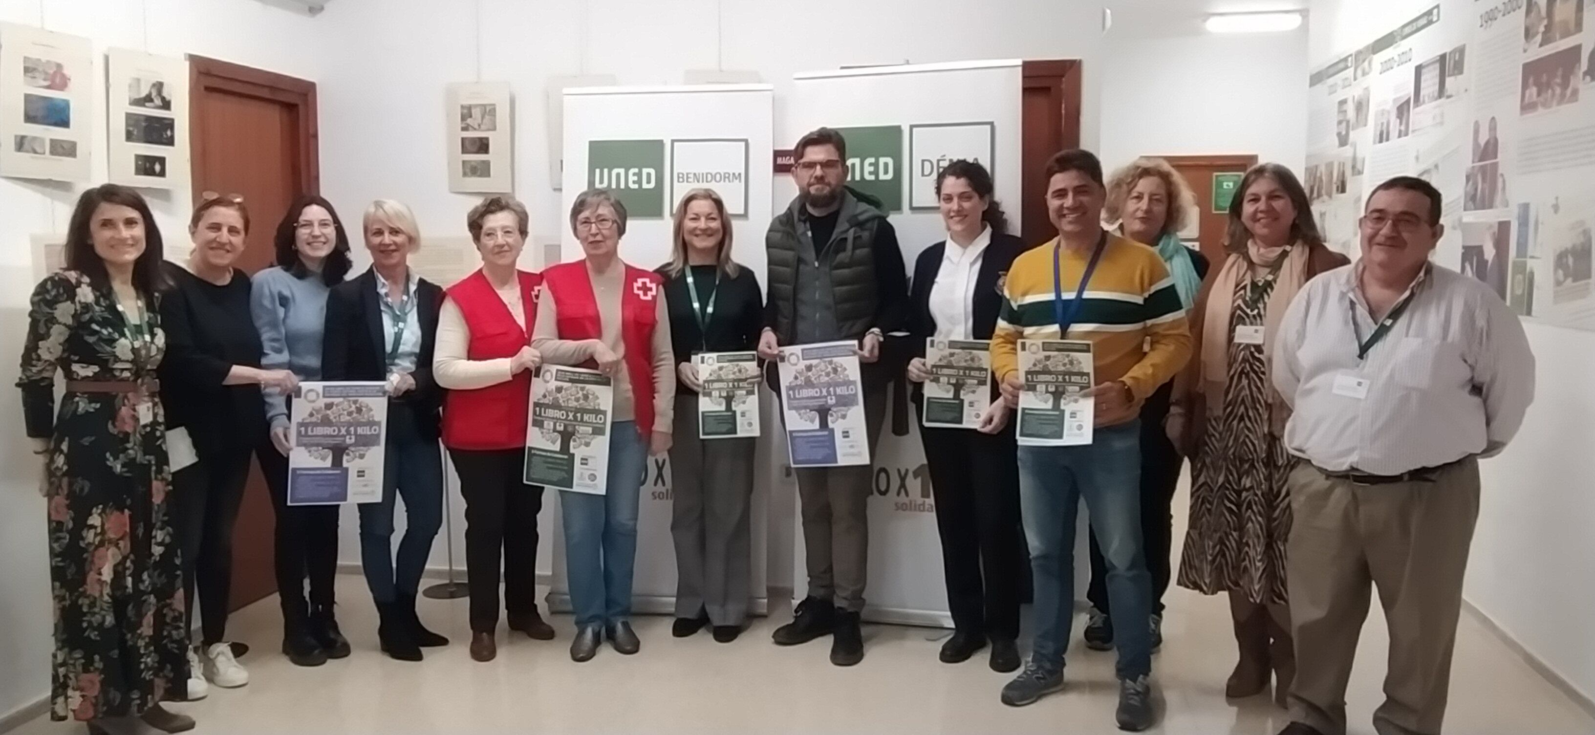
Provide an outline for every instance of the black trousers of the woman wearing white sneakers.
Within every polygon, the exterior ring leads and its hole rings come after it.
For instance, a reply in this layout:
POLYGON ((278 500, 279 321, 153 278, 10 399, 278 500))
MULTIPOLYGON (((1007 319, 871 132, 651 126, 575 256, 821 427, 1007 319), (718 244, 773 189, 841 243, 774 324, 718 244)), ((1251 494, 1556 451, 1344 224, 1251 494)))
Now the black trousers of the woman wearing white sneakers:
POLYGON ((183 552, 183 599, 188 627, 199 612, 201 644, 222 643, 226 635, 228 598, 233 592, 233 526, 249 481, 249 446, 217 448, 198 462, 172 474, 172 510, 177 542, 183 552), (199 596, 195 598, 195 587, 199 596))

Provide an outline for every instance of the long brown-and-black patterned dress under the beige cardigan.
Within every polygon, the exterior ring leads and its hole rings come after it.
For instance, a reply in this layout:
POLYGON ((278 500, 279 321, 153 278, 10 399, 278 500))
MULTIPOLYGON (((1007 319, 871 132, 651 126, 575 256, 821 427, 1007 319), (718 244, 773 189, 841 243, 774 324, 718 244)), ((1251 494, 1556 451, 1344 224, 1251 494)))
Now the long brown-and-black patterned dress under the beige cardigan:
MULTIPOLYGON (((1238 279, 1230 335, 1262 327, 1273 281, 1238 279), (1260 285, 1247 300, 1252 284, 1260 285)), ((1211 335, 1209 338, 1220 338, 1211 335)), ((1230 341, 1223 407, 1191 459, 1191 512, 1180 555, 1180 587, 1203 595, 1241 592, 1247 601, 1286 601, 1286 539, 1294 459, 1270 429, 1268 356, 1262 344, 1230 341)))

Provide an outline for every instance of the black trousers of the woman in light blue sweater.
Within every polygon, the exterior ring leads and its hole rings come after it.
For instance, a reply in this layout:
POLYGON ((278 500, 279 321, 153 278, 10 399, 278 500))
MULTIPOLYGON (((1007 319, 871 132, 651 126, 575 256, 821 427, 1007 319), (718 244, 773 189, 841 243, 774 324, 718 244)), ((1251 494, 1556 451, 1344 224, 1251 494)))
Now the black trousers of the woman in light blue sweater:
POLYGON ((311 611, 332 611, 333 580, 338 577, 338 505, 289 507, 289 458, 270 440, 255 456, 271 491, 278 513, 276 566, 282 622, 305 620, 311 611), (309 604, 305 580, 309 580, 309 604))

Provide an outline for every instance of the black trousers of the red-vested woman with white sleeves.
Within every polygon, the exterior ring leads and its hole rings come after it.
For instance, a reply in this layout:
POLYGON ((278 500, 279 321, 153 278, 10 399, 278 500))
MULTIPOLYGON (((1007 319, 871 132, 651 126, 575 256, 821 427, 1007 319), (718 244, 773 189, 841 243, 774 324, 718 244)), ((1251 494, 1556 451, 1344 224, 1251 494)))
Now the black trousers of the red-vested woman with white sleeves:
POLYGON ((542 486, 526 485, 526 450, 448 450, 466 497, 466 582, 471 631, 493 633, 499 617, 499 560, 504 611, 538 611, 538 513, 542 486), (499 556, 502 553, 502 556, 499 556))

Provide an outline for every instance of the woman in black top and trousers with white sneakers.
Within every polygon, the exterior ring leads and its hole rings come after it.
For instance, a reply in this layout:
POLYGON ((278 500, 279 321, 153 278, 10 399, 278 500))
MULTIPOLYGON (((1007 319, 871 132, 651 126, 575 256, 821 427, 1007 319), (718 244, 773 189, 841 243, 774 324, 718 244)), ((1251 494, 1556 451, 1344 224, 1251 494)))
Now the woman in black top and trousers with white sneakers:
MULTIPOLYGON (((234 268, 249 236, 244 199, 211 193, 188 220, 193 252, 164 263, 172 289, 161 298, 166 359, 161 399, 166 426, 191 453, 172 446, 172 507, 183 550, 188 619, 203 612, 198 649, 188 649, 188 698, 209 684, 249 684, 249 671, 225 641, 233 588, 233 525, 244 501, 249 459, 266 442, 262 387, 292 392, 289 370, 260 367, 260 335, 249 312, 249 276, 234 268), (179 462, 190 462, 179 467, 179 462), (199 595, 195 596, 198 588, 199 595)), ((190 625, 191 627, 191 625, 190 625)))

